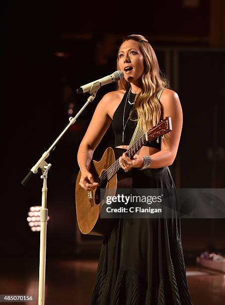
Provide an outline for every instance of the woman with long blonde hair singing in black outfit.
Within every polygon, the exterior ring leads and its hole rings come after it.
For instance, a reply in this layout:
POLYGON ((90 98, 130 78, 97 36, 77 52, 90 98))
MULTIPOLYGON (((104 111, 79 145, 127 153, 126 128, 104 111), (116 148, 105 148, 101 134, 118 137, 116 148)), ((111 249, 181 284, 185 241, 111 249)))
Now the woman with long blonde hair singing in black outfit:
MULTIPOLYGON (((132 176, 133 188, 173 188, 168 166, 176 157, 182 130, 179 97, 167 89, 155 53, 141 35, 124 39, 117 69, 124 73, 119 90, 107 93, 99 102, 78 150, 80 185, 85 190, 98 185, 88 166, 111 123, 115 147, 128 149, 137 120, 146 132, 168 116, 173 129, 170 136, 147 143, 133 159, 122 151, 119 162, 125 174, 132 176)), ((179 221, 120 219, 104 236, 92 304, 192 304, 179 221)))

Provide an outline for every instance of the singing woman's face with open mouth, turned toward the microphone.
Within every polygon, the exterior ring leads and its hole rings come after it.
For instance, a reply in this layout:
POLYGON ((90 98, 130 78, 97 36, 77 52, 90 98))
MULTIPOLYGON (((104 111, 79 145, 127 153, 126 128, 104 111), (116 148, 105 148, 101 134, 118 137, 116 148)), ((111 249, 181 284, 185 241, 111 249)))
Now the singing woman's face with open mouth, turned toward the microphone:
POLYGON ((144 57, 138 41, 127 40, 121 44, 118 63, 126 81, 135 83, 140 79, 144 72, 144 57))

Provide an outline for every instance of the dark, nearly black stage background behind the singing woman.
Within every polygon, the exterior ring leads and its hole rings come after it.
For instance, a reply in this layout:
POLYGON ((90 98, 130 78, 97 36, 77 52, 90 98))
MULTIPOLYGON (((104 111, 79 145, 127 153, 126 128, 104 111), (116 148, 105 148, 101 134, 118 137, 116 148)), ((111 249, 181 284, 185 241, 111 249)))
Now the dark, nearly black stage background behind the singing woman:
MULTIPOLYGON (((225 187, 223 1, 148 1, 137 9, 138 5, 98 2, 100 13, 84 1, 5 3, 2 258, 39 255, 39 233, 31 232, 26 217, 30 206, 41 205, 40 172, 27 185, 20 182, 86 101, 88 95, 78 96, 75 89, 116 70, 117 48, 127 34, 149 38, 181 100, 183 131, 170 166, 176 185, 225 187)), ((107 85, 98 91, 47 159, 52 163, 47 256, 98 255, 99 239, 80 236, 76 228, 76 153, 98 101, 113 89, 107 85)), ((113 145, 111 135, 109 129, 94 159, 113 145)), ((182 220, 182 243, 187 263, 195 263, 207 249, 225 253, 225 220, 182 220)))

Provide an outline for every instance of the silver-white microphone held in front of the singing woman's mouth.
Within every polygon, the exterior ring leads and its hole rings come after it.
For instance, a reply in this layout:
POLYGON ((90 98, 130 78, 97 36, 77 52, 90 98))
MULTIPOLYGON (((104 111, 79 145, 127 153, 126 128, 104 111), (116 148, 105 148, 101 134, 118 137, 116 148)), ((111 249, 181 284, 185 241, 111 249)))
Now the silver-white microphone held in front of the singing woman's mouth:
POLYGON ((112 73, 108 76, 105 76, 94 82, 81 86, 80 88, 76 89, 76 93, 79 94, 79 93, 89 92, 95 86, 98 86, 98 89, 99 89, 103 85, 107 85, 107 84, 115 82, 117 80, 121 80, 122 78, 124 78, 123 72, 120 70, 115 71, 114 73, 112 73))

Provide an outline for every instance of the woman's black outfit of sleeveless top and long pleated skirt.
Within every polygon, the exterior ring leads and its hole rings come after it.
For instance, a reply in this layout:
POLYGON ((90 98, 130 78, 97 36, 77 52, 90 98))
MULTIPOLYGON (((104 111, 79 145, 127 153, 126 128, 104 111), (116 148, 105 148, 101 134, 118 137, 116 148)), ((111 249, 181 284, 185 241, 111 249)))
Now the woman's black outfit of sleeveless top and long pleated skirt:
MULTIPOLYGON (((112 122, 115 147, 129 145, 135 123, 128 121, 122 142, 123 114, 128 91, 112 122)), ((130 102, 135 94, 130 93, 130 102)), ((126 103, 125 122, 132 103, 126 103)), ((152 141, 147 146, 159 147, 152 141)), ((175 188, 168 166, 132 168, 133 188, 175 188)), ((120 219, 104 236, 92 305, 190 305, 177 218, 120 219)))

